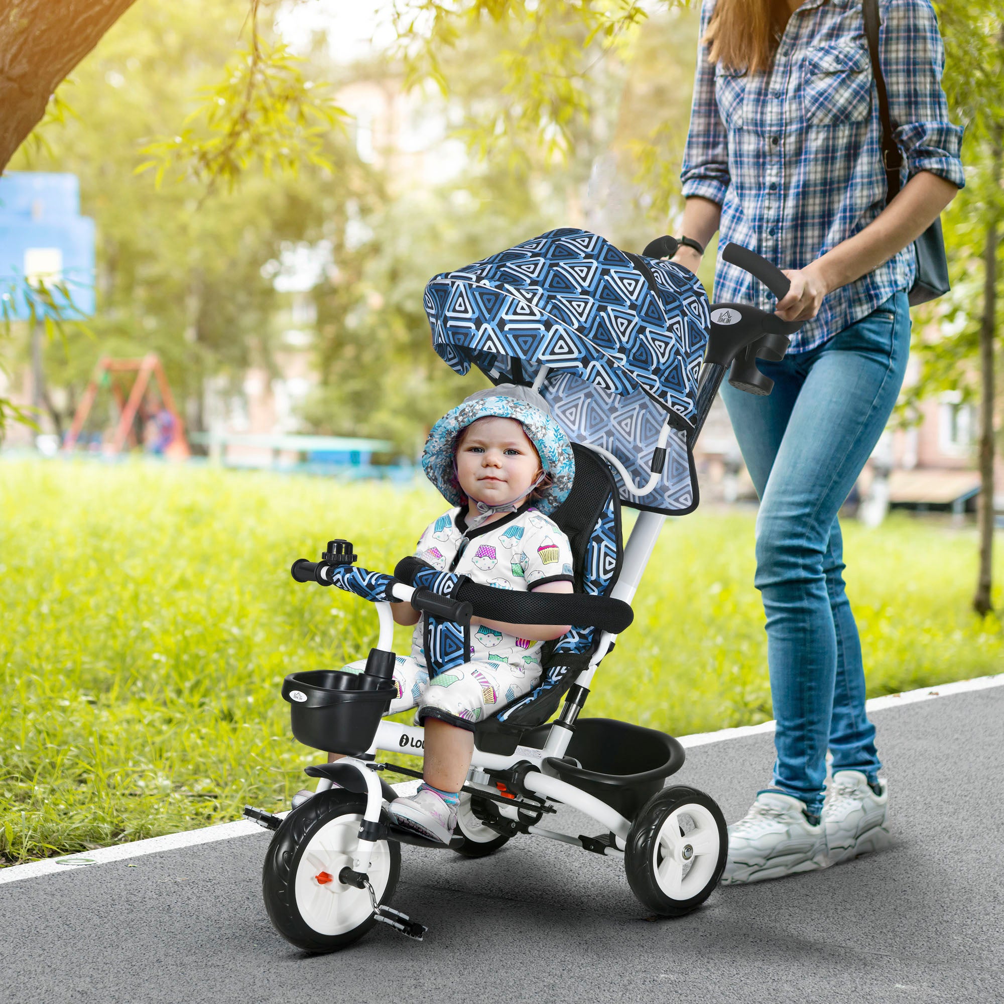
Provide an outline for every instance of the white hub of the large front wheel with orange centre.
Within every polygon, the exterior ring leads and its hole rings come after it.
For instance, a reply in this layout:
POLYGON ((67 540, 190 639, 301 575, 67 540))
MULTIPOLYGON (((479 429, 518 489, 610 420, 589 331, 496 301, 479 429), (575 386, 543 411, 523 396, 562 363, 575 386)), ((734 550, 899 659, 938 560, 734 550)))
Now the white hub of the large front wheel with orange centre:
MULTIPOLYGON (((342 935, 368 920, 372 914, 369 894, 338 881, 344 867, 352 866, 362 816, 338 816, 310 838, 296 868, 296 907, 304 923, 321 935, 342 935)), ((391 848, 379 841, 370 855, 367 872, 379 903, 391 875, 391 848)))

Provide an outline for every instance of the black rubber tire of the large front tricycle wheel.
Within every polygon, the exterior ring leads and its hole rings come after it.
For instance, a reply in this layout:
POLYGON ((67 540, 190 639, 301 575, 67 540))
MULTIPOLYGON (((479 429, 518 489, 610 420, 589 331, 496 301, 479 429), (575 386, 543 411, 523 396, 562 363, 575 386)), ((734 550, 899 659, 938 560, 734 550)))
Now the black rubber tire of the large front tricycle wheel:
MULTIPOLYGON (((262 867, 261 886, 265 910, 273 927, 290 944, 304 952, 336 952, 358 941, 375 923, 372 913, 359 925, 339 935, 324 935, 311 928, 296 904, 295 881, 300 858, 314 833, 341 815, 365 811, 365 796, 331 788, 319 791, 293 809, 275 831, 262 867)), ((394 896, 401 874, 401 844, 386 841, 390 851, 390 873, 380 903, 394 896)))

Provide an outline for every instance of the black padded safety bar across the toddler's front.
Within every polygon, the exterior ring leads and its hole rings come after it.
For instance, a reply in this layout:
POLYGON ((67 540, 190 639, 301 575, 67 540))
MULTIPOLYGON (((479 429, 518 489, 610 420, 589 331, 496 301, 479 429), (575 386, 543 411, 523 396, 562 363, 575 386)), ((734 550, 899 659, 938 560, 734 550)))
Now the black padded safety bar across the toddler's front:
MULTIPOLYGON (((410 555, 398 562, 394 576, 412 584, 416 572, 429 567, 428 562, 410 555)), ((468 580, 460 584, 456 598, 469 602, 476 616, 510 623, 588 624, 619 635, 635 619, 635 611, 622 599, 581 592, 516 592, 468 580)))

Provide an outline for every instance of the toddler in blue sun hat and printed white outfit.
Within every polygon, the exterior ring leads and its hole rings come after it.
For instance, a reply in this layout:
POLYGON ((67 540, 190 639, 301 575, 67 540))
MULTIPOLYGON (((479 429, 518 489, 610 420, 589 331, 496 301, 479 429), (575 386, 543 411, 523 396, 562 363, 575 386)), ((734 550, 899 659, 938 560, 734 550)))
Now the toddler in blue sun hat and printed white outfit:
MULTIPOLYGON (((455 508, 426 528, 418 557, 499 589, 572 591, 568 538, 547 513, 568 495, 575 462, 540 395, 514 385, 472 395, 433 426, 422 466, 455 508)), ((448 843, 475 723, 537 685, 543 643, 568 625, 472 617, 470 662, 430 679, 424 616, 411 603, 392 609, 398 623, 417 626, 411 656, 398 659, 391 713, 417 708, 426 735, 424 783, 390 811, 400 824, 448 843)), ((346 669, 364 666, 360 660, 346 669)))

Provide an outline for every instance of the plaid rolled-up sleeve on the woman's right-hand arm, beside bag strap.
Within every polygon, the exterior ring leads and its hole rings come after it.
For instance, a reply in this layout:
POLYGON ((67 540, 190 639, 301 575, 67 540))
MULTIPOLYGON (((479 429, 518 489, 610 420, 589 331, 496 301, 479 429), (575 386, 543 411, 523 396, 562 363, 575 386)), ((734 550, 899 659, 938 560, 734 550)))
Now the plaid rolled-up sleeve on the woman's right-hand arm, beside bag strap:
POLYGON ((930 171, 964 188, 962 130, 948 116, 941 82, 945 46, 931 0, 892 0, 884 5, 878 51, 894 136, 908 178, 930 171))

